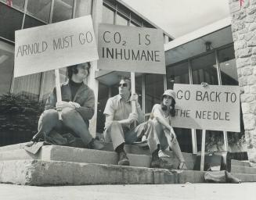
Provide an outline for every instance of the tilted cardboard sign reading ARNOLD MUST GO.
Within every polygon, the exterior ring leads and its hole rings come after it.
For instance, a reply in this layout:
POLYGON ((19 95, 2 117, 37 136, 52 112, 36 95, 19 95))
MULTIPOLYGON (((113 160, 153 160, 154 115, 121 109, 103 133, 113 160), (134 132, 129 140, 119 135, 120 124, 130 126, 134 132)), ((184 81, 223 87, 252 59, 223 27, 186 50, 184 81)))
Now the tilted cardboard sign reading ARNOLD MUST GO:
POLYGON ((14 77, 99 59, 92 17, 15 31, 14 77))

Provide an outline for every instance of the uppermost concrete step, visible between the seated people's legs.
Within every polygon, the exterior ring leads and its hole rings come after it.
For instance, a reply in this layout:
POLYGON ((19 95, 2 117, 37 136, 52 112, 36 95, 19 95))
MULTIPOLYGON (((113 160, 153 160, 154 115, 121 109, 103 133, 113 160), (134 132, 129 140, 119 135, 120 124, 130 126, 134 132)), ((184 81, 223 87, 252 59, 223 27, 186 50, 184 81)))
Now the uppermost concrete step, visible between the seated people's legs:
MULTIPOLYGON (((106 143, 103 141, 96 141, 96 142, 104 145, 104 148, 103 148, 104 151, 114 152, 112 143, 106 143)), ((0 147, 0 152, 6 152, 6 151, 11 151, 11 150, 16 150, 16 149, 23 149, 23 148, 25 148, 25 146, 27 144, 28 144, 28 142, 20 143, 20 144, 16 144, 16 145, 3 146, 3 147, 0 147)), ((128 154, 151 155, 149 148, 142 148, 142 147, 139 147, 136 145, 124 145, 124 150, 128 154)), ((176 158, 175 154, 171 151, 166 151, 166 154, 170 155, 171 159, 176 158)), ((182 152, 182 155, 187 162, 196 162, 197 154, 182 152)))

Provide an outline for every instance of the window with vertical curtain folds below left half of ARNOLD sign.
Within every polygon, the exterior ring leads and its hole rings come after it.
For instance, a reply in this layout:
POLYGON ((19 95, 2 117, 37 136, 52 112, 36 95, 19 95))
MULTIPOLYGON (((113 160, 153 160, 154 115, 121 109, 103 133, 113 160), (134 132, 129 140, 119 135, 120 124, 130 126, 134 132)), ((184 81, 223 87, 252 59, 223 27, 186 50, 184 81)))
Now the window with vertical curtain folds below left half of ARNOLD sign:
POLYGON ((13 84, 13 93, 24 95, 27 98, 38 100, 41 84, 41 73, 16 77, 13 84))

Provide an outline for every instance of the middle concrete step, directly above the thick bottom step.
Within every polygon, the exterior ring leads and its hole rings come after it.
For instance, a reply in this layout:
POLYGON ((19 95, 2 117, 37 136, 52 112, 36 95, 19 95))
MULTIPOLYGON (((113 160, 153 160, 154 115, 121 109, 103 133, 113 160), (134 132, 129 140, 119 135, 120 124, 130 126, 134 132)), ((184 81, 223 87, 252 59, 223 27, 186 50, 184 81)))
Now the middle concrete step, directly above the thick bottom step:
MULTIPOLYGON (((59 145, 46 145, 36 154, 31 154, 25 149, 15 149, 0 151, 0 160, 19 160, 19 159, 41 159, 44 161, 67 161, 67 162, 86 162, 98 164, 117 165, 117 153, 88 148, 74 148, 59 145)), ((130 166, 150 167, 150 155, 137 155, 128 153, 130 166)), ((178 167, 178 159, 166 159, 173 165, 173 169, 178 167)), ((188 170, 193 170, 194 161, 192 157, 187 157, 186 165, 188 170)))

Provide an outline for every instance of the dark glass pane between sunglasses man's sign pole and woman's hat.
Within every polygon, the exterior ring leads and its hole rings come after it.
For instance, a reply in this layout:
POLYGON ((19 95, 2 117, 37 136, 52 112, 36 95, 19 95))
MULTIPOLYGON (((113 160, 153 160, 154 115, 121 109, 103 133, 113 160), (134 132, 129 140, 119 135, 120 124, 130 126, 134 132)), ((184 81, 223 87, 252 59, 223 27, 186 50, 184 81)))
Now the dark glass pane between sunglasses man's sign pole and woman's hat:
POLYGON ((146 74, 145 85, 145 112, 148 113, 151 112, 154 104, 161 101, 164 93, 164 75, 146 74))

